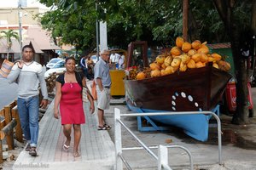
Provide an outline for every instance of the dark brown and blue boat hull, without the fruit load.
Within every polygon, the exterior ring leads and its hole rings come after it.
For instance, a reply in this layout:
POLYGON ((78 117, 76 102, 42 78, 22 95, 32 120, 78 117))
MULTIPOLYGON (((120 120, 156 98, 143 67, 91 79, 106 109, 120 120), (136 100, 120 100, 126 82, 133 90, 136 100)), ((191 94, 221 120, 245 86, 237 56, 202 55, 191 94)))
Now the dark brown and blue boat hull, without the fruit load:
MULTIPOLYGON (((134 112, 212 111, 222 99, 230 77, 228 72, 207 65, 162 77, 125 79, 125 99, 134 112)), ((150 116, 150 119, 181 127, 189 136, 207 141, 210 116, 150 116)))

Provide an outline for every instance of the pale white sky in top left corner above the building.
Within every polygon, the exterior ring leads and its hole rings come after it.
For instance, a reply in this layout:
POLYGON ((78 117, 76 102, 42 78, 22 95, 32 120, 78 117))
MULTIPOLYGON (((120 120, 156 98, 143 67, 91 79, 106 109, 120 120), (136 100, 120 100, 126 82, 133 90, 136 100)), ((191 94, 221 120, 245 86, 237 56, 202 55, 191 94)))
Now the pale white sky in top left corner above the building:
MULTIPOLYGON (((0 0, 0 8, 4 7, 18 7, 19 0, 0 0)), ((26 0, 27 7, 39 7, 39 8, 47 8, 42 3, 39 3, 39 0, 26 0)))

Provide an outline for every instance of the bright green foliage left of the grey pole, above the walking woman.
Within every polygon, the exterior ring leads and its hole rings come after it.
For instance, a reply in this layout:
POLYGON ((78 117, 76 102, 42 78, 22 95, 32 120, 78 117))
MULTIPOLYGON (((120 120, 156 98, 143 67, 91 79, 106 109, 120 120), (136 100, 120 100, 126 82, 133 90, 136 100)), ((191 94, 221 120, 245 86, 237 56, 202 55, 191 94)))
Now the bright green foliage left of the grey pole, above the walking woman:
POLYGON ((52 32, 52 37, 61 37, 61 42, 73 44, 76 49, 96 47, 96 9, 95 2, 41 0, 48 6, 55 5, 41 17, 44 29, 52 32))

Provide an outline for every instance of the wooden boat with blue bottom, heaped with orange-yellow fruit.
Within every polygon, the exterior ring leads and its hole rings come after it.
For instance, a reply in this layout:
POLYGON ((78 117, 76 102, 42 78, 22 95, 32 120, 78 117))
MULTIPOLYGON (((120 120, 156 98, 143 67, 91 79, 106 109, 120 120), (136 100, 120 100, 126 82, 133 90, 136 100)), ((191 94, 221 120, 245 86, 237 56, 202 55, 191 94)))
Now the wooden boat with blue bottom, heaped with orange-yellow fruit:
MULTIPOLYGON (((203 45, 200 44, 200 46, 203 45)), ((207 49, 195 49, 191 45, 191 47, 186 47, 189 49, 183 51, 182 46, 178 47, 178 44, 174 48, 177 51, 171 50, 170 53, 159 55, 148 67, 147 43, 131 42, 126 64, 127 76, 124 80, 126 104, 131 111, 139 113, 212 111, 218 105, 231 77, 227 72, 230 65, 228 63, 224 65, 226 62, 217 54, 208 54, 207 49), (141 56, 134 60, 133 50, 136 46, 141 46, 141 56), (194 54, 192 52, 189 54, 190 49, 193 49, 194 54), (201 55, 205 55, 200 51, 207 56, 202 60, 205 62, 195 59, 195 55, 196 57, 200 56, 199 58, 203 58, 201 55), (184 57, 184 55, 186 56, 184 57), (210 58, 210 62, 208 58, 210 58), (177 64, 177 62, 179 63, 177 64), (196 63, 199 62, 201 62, 200 65, 196 66, 196 63), (139 69, 134 66, 136 63, 143 63, 143 67, 139 69), (186 65, 186 69, 181 68, 181 65, 186 65)), ((150 116, 154 122, 181 127, 184 133, 200 141, 208 139, 210 118, 211 116, 208 115, 192 114, 150 116)))

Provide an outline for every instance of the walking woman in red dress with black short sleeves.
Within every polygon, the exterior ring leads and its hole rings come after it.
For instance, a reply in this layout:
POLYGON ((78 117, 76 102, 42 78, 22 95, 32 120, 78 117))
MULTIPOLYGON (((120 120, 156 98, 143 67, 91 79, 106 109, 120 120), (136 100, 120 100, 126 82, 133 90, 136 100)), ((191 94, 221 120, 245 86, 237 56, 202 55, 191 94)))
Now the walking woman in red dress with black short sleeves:
MULTIPOLYGON (((67 58, 65 66, 67 71, 60 75, 55 83, 55 105, 54 116, 59 118, 59 105, 61 112, 61 124, 63 133, 66 136, 66 141, 63 145, 63 150, 68 150, 71 142, 71 130, 74 130, 74 150, 73 156, 79 157, 79 142, 81 139, 80 124, 85 123, 82 90, 86 87, 85 77, 81 76, 75 70, 75 59, 67 58)), ((95 110, 93 99, 90 92, 87 92, 87 97, 90 100, 90 112, 95 110)))

